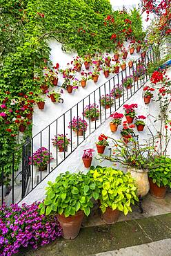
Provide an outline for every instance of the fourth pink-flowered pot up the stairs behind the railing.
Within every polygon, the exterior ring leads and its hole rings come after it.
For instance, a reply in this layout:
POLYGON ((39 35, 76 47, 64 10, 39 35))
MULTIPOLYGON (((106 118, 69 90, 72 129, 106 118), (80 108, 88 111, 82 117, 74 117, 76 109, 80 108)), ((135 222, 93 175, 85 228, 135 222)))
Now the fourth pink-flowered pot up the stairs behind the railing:
POLYGON ((89 104, 84 109, 83 115, 91 121, 98 120, 100 116, 99 106, 97 104, 89 104))

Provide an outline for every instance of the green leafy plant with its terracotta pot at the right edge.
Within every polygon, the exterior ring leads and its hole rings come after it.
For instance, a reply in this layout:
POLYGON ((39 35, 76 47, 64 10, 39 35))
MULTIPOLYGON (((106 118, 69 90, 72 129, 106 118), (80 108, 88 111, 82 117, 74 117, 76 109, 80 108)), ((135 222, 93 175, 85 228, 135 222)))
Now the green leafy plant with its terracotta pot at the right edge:
POLYGON ((158 199, 163 199, 167 188, 171 188, 171 158, 154 156, 150 158, 148 169, 150 194, 158 199))

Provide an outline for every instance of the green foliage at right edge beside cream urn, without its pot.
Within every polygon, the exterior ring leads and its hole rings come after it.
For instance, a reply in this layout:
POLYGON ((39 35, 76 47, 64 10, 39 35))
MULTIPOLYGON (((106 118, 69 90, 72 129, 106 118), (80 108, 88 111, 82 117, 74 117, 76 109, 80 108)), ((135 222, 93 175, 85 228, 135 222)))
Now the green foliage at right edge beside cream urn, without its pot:
POLYGON ((168 186, 171 188, 171 158, 166 156, 150 158, 148 170, 148 176, 158 187, 168 186))

